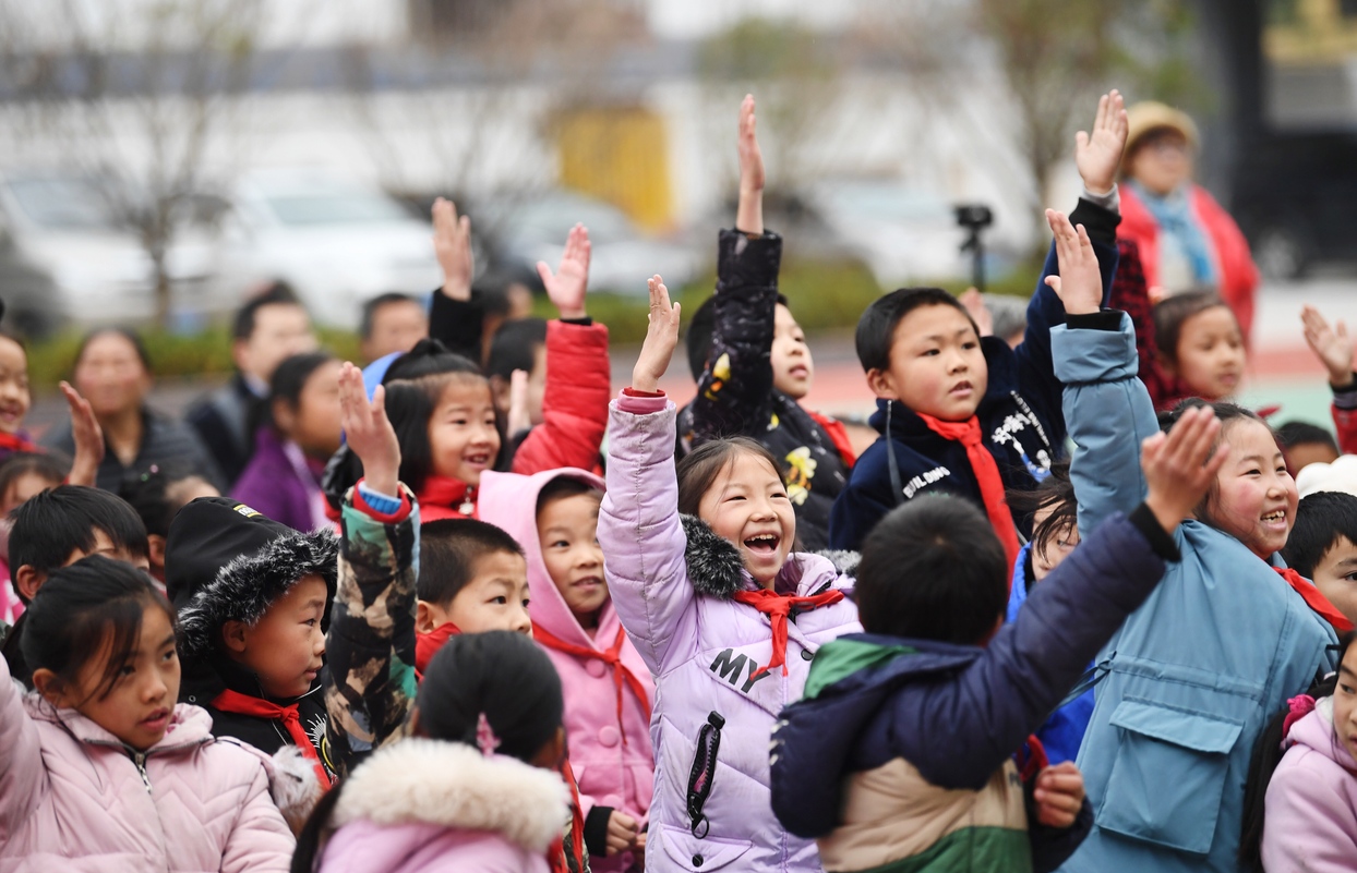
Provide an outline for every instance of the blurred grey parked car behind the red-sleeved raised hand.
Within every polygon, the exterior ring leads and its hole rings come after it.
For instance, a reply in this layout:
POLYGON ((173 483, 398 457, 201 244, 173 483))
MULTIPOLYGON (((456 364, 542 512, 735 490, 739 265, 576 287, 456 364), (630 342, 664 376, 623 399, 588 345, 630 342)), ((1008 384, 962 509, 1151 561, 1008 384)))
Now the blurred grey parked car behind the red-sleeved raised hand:
POLYGON ((703 252, 685 244, 646 237, 620 209, 570 191, 525 195, 508 206, 487 206, 472 224, 490 241, 497 268, 529 270, 539 260, 555 270, 575 224, 589 228, 589 290, 646 296, 654 274, 669 287, 691 282, 704 266, 703 252))

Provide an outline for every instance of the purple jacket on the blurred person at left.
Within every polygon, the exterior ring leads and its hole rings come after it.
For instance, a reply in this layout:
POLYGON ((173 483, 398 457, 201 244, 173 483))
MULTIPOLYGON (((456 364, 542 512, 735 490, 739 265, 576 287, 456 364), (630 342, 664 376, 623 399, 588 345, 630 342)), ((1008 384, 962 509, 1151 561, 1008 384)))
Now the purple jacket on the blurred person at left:
POLYGON ((261 427, 255 435, 254 457, 231 496, 304 534, 328 526, 320 480, 307 469, 301 450, 289 449, 271 427, 261 427))

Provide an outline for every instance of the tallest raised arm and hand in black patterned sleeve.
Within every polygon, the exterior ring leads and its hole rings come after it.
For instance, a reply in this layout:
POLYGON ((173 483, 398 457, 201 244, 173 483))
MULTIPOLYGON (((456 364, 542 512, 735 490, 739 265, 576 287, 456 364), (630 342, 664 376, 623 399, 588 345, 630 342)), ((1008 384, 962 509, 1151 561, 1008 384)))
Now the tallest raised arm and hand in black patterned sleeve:
POLYGON ((716 241, 716 293, 711 350, 697 377, 692 430, 697 441, 757 436, 768 427, 773 390, 772 339, 778 309, 782 237, 763 224, 764 164, 754 99, 740 104, 740 207, 735 229, 716 241))

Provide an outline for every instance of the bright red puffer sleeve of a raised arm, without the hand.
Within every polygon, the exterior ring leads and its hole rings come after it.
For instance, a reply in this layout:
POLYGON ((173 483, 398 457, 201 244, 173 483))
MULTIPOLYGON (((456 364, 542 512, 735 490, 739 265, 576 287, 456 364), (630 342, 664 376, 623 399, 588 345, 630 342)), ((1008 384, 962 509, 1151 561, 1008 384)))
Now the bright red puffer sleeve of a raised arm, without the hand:
POLYGON ((562 466, 601 472, 598 450, 611 400, 608 328, 598 323, 548 321, 541 424, 518 446, 513 472, 531 476, 562 466))

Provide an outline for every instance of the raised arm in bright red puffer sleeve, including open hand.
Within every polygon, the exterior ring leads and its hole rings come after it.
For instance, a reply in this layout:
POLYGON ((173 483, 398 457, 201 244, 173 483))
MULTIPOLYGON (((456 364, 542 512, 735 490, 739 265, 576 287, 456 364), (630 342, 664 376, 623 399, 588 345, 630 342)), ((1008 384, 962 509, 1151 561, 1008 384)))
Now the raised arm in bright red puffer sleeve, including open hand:
MULTIPOLYGON (((566 240, 556 272, 537 262, 547 297, 559 320, 547 323, 547 385, 541 397, 541 424, 513 457, 513 472, 532 474, 562 466, 592 470, 608 428, 612 367, 608 328, 585 310, 589 287, 589 230, 577 224, 566 240)), ((510 431, 513 432, 513 431, 510 431)))

